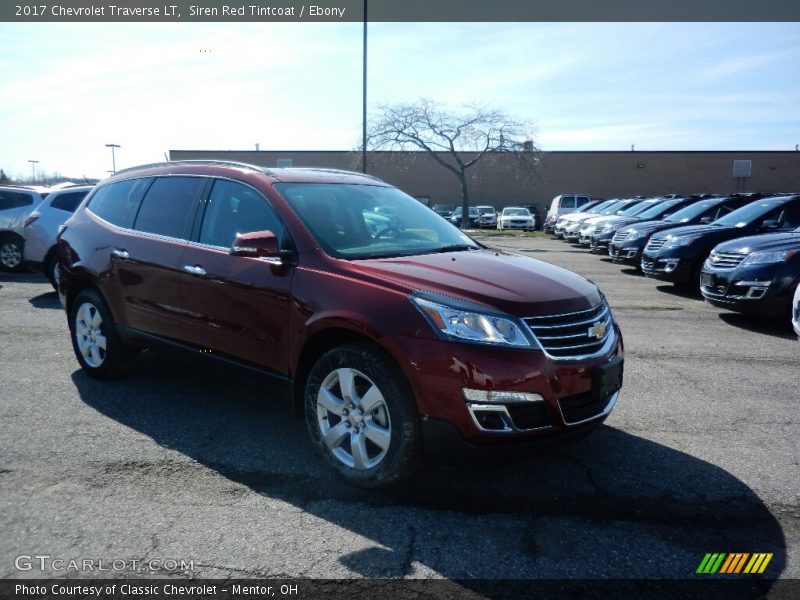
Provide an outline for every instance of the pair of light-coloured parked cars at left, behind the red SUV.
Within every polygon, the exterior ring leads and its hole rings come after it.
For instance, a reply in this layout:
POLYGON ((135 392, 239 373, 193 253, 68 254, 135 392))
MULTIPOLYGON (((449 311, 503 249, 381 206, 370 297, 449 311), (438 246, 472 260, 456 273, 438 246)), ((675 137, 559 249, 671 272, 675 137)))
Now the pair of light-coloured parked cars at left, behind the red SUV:
POLYGON ((28 267, 44 273, 55 287, 58 229, 92 187, 0 186, 0 269, 28 267))

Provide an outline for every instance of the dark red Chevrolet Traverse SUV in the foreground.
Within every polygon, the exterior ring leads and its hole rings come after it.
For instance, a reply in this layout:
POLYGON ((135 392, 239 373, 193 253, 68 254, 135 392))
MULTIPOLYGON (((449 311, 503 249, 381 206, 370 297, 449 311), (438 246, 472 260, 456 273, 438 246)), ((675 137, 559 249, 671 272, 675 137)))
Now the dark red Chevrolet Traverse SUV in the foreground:
POLYGON ((120 171, 58 249, 89 375, 162 343, 288 380, 311 438, 357 485, 393 483, 442 445, 586 432, 622 385, 622 337, 593 283, 486 248, 357 173, 120 171))

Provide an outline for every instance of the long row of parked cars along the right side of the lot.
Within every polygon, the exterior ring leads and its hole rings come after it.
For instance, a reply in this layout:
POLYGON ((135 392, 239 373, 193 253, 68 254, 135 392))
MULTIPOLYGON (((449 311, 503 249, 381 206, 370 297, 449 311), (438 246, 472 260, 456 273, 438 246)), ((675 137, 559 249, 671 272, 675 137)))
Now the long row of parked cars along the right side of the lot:
POLYGON ((714 306, 789 319, 800 336, 800 194, 592 201, 545 227, 714 306))

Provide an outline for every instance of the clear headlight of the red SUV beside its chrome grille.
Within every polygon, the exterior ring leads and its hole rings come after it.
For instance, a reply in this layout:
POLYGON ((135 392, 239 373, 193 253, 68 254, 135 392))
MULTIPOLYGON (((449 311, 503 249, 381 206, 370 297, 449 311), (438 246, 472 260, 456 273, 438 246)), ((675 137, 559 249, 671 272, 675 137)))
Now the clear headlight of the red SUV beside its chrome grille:
POLYGON ((413 295, 411 300, 428 318, 434 329, 447 337, 517 348, 531 345, 513 319, 461 310, 413 295))

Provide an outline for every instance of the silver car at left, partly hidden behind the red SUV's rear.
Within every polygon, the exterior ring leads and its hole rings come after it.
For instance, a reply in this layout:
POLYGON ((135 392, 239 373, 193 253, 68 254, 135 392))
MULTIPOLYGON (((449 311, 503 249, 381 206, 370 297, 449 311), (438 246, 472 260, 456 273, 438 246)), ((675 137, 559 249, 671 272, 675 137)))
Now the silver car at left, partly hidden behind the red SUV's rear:
POLYGON ((56 190, 25 219, 25 265, 44 273, 53 287, 57 283, 55 244, 58 229, 72 216, 92 187, 76 185, 56 190))

